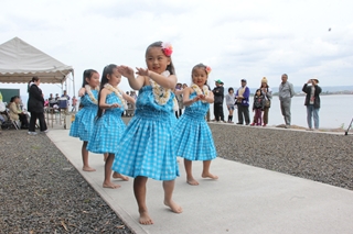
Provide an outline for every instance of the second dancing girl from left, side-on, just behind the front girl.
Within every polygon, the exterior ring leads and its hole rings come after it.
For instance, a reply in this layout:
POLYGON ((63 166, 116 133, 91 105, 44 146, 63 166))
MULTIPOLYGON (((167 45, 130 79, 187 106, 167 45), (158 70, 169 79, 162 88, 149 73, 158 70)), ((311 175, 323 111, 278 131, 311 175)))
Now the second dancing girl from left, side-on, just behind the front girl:
MULTIPOLYGON (((100 91, 98 94, 97 119, 87 145, 89 152, 96 154, 108 153, 105 160, 105 178, 103 187, 111 189, 120 187, 110 181, 110 176, 114 156, 117 152, 119 140, 126 130, 126 125, 121 120, 121 114, 126 109, 126 100, 130 103, 135 103, 133 98, 118 89, 120 81, 121 75, 116 65, 110 64, 104 68, 100 91)), ((114 175, 114 178, 128 180, 128 177, 118 172, 114 175)))

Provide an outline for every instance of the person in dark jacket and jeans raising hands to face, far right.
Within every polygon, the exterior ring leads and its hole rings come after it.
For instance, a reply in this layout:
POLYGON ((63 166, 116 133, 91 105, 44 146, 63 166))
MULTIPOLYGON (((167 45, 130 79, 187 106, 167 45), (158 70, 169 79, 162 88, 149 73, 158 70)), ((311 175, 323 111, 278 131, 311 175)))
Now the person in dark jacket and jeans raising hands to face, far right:
POLYGON ((319 110, 320 110, 320 93, 321 88, 318 86, 318 79, 309 79, 302 87, 302 91, 307 93, 304 105, 307 105, 307 120, 309 130, 312 130, 312 121, 314 131, 319 130, 319 110), (308 86, 311 83, 311 86, 308 86))

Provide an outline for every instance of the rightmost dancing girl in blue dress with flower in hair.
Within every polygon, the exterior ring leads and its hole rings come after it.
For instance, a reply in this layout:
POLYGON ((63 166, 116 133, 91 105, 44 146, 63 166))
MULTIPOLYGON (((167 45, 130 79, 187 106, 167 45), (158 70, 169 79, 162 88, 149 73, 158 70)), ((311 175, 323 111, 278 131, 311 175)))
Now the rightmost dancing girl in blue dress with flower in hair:
POLYGON ((192 160, 203 160, 203 178, 218 179, 210 172, 211 160, 216 157, 211 130, 205 121, 205 114, 213 103, 213 92, 205 85, 211 68, 197 64, 192 68, 192 85, 184 89, 183 100, 186 105, 184 114, 178 120, 174 129, 176 155, 184 158, 186 182, 197 186, 192 175, 192 160))

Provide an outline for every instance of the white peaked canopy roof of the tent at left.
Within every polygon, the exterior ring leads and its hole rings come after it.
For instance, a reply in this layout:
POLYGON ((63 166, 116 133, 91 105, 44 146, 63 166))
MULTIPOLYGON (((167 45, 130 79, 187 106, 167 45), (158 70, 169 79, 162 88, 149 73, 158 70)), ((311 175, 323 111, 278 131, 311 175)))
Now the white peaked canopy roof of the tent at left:
POLYGON ((72 66, 56 60, 19 37, 0 45, 0 82, 25 83, 33 76, 38 76, 42 83, 61 83, 62 89, 64 83, 67 88, 67 79, 71 79, 75 93, 72 66))

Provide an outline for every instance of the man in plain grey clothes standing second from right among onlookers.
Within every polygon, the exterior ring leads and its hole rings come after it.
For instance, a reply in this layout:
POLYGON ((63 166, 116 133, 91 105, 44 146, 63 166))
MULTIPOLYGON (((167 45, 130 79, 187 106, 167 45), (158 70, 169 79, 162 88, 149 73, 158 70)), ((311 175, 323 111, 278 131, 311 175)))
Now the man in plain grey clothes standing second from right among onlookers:
POLYGON ((291 98, 296 94, 293 85, 288 82, 288 75, 284 74, 282 77, 282 82, 279 85, 279 90, 278 90, 278 97, 279 97, 279 102, 280 102, 280 110, 281 113, 285 118, 286 122, 286 129, 290 127, 290 104, 291 104, 291 98))

